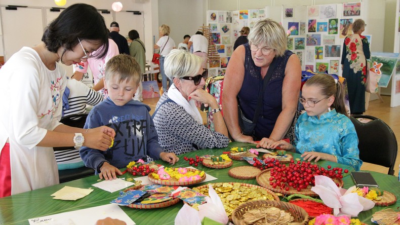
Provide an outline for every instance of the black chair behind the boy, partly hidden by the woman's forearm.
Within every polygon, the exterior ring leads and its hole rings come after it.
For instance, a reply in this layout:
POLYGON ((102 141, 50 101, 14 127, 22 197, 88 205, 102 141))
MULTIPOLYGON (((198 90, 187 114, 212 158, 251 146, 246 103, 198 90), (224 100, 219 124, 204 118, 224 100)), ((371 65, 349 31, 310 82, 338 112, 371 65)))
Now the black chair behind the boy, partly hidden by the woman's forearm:
MULTIPOLYGON (((65 125, 71 126, 71 127, 84 128, 87 117, 88 117, 88 114, 69 115, 69 116, 61 118, 60 122, 65 125)), ((54 151, 62 151, 62 150, 66 150, 66 149, 74 149, 74 146, 54 147, 53 149, 54 149, 54 151)), ((58 171, 60 183, 79 179, 79 178, 84 178, 84 177, 91 176, 94 174, 95 174, 94 169, 88 168, 85 166, 75 168, 75 169, 66 169, 66 170, 58 171)))

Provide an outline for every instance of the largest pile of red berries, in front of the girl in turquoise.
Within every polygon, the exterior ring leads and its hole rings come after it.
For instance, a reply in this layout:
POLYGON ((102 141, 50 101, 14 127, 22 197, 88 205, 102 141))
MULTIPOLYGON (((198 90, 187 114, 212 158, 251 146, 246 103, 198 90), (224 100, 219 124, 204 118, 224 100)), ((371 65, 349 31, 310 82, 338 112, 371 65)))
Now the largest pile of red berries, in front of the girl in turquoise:
MULTIPOLYGON (((300 162, 294 163, 294 160, 290 161, 287 166, 285 164, 276 164, 271 169, 271 177, 269 178, 269 185, 274 189, 276 187, 281 190, 289 191, 290 187, 300 192, 306 189, 308 185, 315 185, 314 175, 324 175, 330 178, 343 178, 342 168, 328 166, 328 169, 320 167, 316 164, 311 164, 310 162, 300 162)), ((348 173, 345 169, 344 173, 348 173)), ((336 185, 339 185, 336 183, 336 185)))

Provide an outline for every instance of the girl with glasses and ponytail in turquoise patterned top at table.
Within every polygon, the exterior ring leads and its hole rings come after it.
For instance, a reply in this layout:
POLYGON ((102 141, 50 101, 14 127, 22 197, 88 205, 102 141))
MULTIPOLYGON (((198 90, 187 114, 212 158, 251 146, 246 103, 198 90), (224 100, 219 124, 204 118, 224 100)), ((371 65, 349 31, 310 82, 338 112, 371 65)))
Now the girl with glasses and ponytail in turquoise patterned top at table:
POLYGON ((348 118, 344 95, 343 85, 329 74, 311 77, 299 98, 306 113, 297 120, 295 142, 292 145, 280 140, 269 148, 280 146, 302 154, 304 160, 328 160, 358 171, 363 161, 358 156, 358 137, 348 118))

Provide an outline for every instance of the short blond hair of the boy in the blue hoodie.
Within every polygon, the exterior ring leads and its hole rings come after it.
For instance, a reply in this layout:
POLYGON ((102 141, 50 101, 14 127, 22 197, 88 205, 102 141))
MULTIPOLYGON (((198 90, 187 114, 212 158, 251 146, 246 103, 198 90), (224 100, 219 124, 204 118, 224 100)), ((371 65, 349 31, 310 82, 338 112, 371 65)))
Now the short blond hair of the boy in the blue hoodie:
POLYGON ((108 60, 105 65, 104 79, 109 81, 114 76, 119 76, 118 82, 133 81, 139 85, 142 70, 136 59, 130 55, 119 54, 108 60))

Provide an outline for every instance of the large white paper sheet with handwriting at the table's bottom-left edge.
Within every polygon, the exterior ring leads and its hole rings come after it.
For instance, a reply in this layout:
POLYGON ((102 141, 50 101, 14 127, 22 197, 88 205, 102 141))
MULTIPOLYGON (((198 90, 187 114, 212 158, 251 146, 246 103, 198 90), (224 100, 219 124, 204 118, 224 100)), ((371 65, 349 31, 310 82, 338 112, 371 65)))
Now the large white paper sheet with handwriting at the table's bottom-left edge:
POLYGON ((116 204, 108 204, 54 215, 41 216, 28 219, 28 221, 30 225, 87 225, 96 224, 97 220, 104 219, 106 217, 123 220, 127 223, 127 225, 136 224, 116 204))

